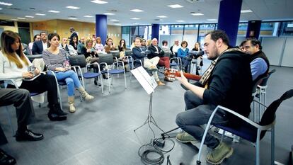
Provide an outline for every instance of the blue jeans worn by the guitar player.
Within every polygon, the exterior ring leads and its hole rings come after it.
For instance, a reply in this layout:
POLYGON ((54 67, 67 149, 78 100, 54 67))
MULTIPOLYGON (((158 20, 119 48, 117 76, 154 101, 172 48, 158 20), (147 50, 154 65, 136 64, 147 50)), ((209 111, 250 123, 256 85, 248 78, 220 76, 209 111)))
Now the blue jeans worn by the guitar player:
MULTIPOLYGON (((202 99, 197 97, 192 91, 185 91, 184 99, 187 110, 177 115, 176 124, 182 130, 195 137, 195 139, 201 141, 205 132, 201 125, 207 124, 216 106, 203 104, 202 99)), ((225 117, 226 113, 223 110, 218 110, 217 112, 214 115, 212 124, 226 125, 228 123, 225 117)), ((207 133, 205 144, 207 147, 214 149, 218 146, 219 140, 207 133)))

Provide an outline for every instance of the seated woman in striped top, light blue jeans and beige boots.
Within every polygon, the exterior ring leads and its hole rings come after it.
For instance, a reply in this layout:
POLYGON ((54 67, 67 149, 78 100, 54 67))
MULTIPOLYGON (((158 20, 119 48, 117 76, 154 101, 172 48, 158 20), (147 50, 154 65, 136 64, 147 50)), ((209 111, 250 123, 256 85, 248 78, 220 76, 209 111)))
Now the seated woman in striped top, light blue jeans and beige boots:
POLYGON ((66 60, 66 52, 59 48, 60 37, 57 33, 50 33, 48 35, 48 48, 42 52, 42 57, 45 61, 47 69, 55 72, 58 81, 65 81, 67 83, 69 112, 74 113, 74 89, 77 88, 81 93, 82 98, 86 101, 92 100, 93 96, 86 93, 81 86, 79 77, 76 72, 71 70, 66 60))

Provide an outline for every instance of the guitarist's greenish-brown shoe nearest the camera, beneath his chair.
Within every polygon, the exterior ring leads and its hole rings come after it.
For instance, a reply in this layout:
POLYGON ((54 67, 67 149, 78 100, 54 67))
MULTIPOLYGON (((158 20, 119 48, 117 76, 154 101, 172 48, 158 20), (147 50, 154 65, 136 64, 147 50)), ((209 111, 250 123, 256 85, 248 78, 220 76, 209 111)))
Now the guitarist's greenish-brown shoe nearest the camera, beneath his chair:
POLYGON ((209 164, 221 164, 225 158, 229 158, 233 154, 233 148, 221 142, 216 148, 207 154, 207 162, 209 164))

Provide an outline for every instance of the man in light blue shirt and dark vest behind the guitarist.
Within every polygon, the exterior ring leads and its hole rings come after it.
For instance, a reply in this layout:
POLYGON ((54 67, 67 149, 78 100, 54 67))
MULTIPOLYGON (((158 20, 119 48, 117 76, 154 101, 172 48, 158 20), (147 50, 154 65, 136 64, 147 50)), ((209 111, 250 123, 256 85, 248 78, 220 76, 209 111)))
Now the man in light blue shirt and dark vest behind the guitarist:
POLYGON ((241 42, 241 50, 251 55, 251 74, 253 81, 257 82, 260 78, 267 76, 270 69, 270 62, 262 51, 260 41, 256 38, 246 38, 241 42))

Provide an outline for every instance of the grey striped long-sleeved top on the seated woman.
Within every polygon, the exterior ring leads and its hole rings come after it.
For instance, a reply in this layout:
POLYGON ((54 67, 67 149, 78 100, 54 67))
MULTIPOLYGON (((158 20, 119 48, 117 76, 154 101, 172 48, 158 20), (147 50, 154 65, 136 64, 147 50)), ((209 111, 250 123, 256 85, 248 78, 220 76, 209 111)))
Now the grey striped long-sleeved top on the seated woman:
POLYGON ((49 50, 42 51, 42 58, 46 64, 47 69, 54 71, 57 67, 64 67, 64 62, 67 62, 66 52, 59 49, 59 53, 53 54, 49 50))

